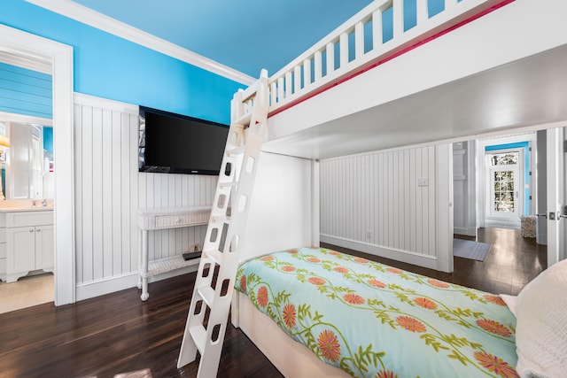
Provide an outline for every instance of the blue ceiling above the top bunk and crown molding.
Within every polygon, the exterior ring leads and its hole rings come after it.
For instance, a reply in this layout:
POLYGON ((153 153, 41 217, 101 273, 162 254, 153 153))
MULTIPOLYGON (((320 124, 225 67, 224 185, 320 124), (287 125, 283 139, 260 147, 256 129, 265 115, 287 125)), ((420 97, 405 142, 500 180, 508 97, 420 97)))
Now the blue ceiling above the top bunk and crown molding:
POLYGON ((252 78, 276 73, 371 2, 74 0, 252 78))

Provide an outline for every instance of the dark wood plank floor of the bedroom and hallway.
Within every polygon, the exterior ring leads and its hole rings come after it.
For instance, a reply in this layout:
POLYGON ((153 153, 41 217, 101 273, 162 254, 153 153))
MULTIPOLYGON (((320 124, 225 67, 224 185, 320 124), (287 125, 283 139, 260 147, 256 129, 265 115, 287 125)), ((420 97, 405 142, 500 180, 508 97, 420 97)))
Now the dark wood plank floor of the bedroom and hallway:
MULTIPOLYGON (((517 231, 481 230, 479 241, 493 243, 485 262, 454 258, 453 274, 374 259, 507 294, 517 294, 547 265, 545 247, 521 238, 517 231)), ((0 314, 0 376, 103 378, 150 369, 153 377, 194 377, 197 363, 175 366, 194 279, 195 274, 185 274, 151 283, 151 297, 145 303, 137 289, 127 289, 74 305, 37 305, 0 314)), ((229 326, 219 376, 282 375, 240 330, 229 326)))

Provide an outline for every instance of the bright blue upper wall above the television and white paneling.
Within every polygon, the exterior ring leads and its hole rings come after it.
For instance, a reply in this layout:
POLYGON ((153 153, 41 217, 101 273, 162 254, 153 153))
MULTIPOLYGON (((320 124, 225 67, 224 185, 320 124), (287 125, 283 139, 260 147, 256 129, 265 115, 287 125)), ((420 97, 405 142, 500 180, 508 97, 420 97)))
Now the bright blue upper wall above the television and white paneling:
POLYGON ((0 23, 74 48, 74 91, 228 124, 239 88, 178 59, 44 10, 0 1, 0 23))

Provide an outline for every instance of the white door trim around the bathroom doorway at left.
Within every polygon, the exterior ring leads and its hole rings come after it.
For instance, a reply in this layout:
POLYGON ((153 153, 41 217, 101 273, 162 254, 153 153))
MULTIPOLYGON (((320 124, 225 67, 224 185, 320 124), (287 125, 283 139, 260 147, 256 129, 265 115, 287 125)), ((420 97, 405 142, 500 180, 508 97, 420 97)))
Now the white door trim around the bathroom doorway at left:
POLYGON ((52 67, 55 305, 74 303, 73 48, 0 24, 0 50, 43 59, 52 67))

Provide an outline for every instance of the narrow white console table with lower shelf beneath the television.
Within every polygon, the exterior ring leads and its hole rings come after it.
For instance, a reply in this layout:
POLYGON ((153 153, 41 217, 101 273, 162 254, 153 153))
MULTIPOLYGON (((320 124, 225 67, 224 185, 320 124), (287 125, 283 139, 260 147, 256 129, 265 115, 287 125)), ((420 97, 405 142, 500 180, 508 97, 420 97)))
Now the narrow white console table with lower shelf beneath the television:
POLYGON ((148 260, 148 231, 206 225, 210 215, 210 205, 138 210, 138 228, 140 228, 138 289, 142 289, 140 298, 143 301, 150 297, 148 277, 179 269, 183 266, 197 265, 199 262, 199 258, 185 261, 182 255, 148 260))

